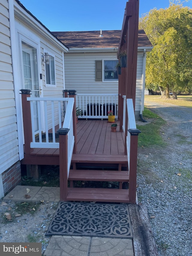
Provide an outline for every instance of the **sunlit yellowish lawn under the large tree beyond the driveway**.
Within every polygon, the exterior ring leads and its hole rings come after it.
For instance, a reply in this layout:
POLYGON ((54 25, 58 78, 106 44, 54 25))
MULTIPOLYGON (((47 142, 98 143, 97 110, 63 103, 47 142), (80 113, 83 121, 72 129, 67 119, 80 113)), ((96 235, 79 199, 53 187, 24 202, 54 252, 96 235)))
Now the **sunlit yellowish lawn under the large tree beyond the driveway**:
POLYGON ((167 100, 160 97, 160 95, 145 95, 146 100, 149 99, 162 105, 169 103, 181 107, 192 107, 192 95, 178 95, 177 100, 173 100, 172 96, 167 100))

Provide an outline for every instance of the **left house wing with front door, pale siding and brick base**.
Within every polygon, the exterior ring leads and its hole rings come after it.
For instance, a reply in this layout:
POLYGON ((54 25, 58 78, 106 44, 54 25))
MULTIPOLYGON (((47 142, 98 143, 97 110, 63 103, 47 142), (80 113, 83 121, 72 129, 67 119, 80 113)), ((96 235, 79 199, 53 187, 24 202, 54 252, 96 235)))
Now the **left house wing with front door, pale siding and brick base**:
MULTIPOLYGON (((20 90, 30 89, 31 97, 62 98, 67 51, 18 0, 1 0, 0 198, 21 179, 19 160, 24 157, 24 139, 20 90)), ((44 127, 44 120, 41 122, 44 127)))

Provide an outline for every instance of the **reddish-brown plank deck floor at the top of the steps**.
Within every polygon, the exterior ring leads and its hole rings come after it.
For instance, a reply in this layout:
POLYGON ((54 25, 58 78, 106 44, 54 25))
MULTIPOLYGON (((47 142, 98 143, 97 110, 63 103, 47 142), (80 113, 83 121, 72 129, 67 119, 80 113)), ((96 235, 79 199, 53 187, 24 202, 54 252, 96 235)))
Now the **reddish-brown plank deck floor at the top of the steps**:
MULTIPOLYGON (((116 122, 118 123, 118 122, 116 122)), ((124 134, 111 132, 111 123, 107 120, 79 120, 77 123, 77 152, 72 162, 119 163, 125 164, 124 134)), ((59 149, 32 149, 25 154, 21 164, 59 165, 59 149)))

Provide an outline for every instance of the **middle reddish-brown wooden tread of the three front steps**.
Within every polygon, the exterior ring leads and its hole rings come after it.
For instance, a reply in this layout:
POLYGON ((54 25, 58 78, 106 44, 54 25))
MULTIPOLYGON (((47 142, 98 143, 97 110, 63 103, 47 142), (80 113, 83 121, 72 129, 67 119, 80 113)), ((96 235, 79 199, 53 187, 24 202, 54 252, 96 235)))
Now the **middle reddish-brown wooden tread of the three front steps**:
POLYGON ((128 171, 70 170, 68 180, 129 181, 128 171))

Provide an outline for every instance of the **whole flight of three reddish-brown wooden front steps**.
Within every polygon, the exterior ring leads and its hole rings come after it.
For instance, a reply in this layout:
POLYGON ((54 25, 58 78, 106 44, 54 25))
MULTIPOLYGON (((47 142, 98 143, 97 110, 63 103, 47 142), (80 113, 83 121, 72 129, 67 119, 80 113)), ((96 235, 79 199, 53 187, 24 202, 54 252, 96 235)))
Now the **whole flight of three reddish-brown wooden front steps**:
POLYGON ((129 182, 128 170, 122 170, 122 166, 127 164, 127 156, 74 154, 71 162, 73 169, 68 176, 70 188, 67 188, 67 201, 129 203, 129 191, 122 188, 123 182, 129 182), (88 170, 85 169, 86 165, 88 170), (77 170, 77 166, 83 166, 83 170, 77 170), (111 170, 91 170, 99 166, 106 166, 111 170), (119 182, 119 188, 74 188, 73 181, 119 182))

